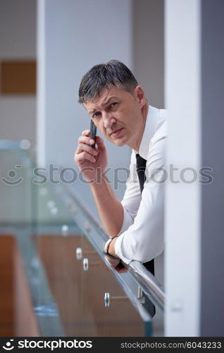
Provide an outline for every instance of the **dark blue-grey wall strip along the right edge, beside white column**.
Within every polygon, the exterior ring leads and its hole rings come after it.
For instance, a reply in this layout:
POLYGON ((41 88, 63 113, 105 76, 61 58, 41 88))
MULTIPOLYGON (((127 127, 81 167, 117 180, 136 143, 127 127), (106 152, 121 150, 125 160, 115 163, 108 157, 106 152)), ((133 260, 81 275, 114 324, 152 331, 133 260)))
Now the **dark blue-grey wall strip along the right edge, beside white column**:
POLYGON ((201 1, 202 187, 201 336, 224 335, 224 1, 201 1))

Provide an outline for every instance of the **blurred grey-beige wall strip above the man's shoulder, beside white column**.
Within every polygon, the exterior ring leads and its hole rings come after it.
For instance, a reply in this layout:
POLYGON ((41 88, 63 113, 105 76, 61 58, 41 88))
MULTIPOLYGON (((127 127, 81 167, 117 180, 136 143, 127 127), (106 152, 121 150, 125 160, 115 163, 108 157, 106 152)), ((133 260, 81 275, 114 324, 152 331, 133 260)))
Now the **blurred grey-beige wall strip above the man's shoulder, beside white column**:
POLYGON ((164 3, 132 1, 133 70, 149 104, 164 108, 164 3))

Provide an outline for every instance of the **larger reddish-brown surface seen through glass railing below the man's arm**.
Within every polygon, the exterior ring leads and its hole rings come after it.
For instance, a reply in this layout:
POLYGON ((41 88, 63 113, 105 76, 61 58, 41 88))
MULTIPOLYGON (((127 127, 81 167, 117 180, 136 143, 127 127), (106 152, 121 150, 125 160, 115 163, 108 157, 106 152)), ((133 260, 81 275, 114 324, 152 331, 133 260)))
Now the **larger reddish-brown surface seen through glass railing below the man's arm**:
POLYGON ((42 235, 39 256, 67 336, 144 336, 145 324, 90 244, 82 236, 42 235), (83 248, 82 248, 83 249, 83 248), (87 256, 87 257, 84 257, 87 256), (109 294, 109 300, 105 297, 109 294))

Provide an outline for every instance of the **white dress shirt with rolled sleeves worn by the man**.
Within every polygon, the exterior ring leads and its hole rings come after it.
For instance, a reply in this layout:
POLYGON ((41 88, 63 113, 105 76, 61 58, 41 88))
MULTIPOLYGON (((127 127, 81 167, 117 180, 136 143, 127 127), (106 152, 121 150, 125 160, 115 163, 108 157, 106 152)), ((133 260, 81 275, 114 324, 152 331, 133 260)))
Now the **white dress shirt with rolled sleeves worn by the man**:
POLYGON ((116 254, 127 264, 132 260, 145 263, 163 251, 166 117, 166 110, 149 106, 139 151, 132 150, 130 175, 121 201, 124 220, 115 243, 116 254), (136 170, 137 153, 147 160, 142 198, 136 170))

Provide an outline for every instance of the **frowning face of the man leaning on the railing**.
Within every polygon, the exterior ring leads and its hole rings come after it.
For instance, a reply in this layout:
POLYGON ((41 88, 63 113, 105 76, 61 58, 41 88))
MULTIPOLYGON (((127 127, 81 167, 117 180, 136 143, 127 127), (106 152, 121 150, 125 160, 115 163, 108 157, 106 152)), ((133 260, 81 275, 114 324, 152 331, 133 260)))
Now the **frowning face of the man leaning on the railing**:
POLYGON ((138 138, 142 114, 135 91, 132 95, 111 85, 94 100, 87 100, 84 107, 99 131, 115 145, 132 146, 138 138))

